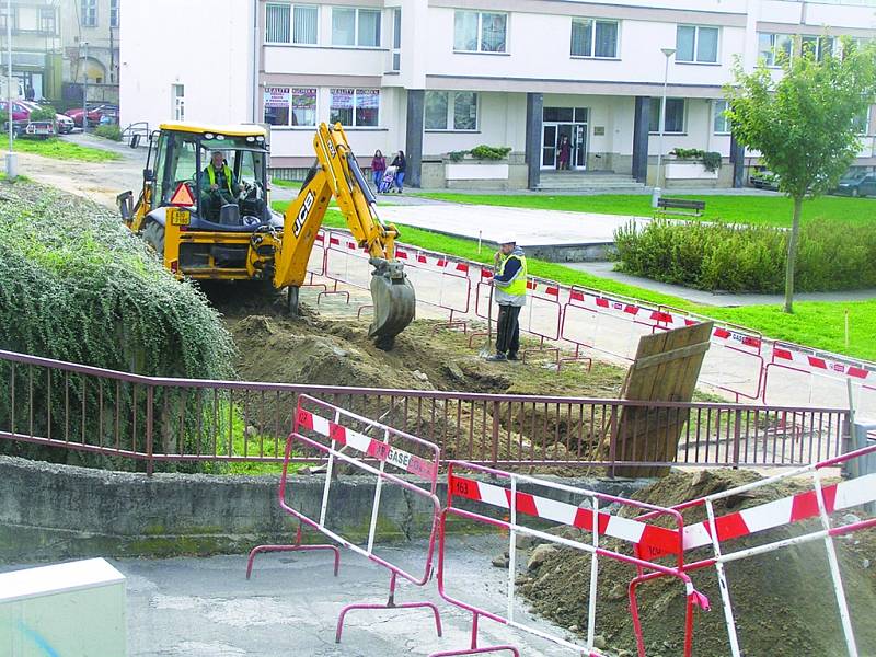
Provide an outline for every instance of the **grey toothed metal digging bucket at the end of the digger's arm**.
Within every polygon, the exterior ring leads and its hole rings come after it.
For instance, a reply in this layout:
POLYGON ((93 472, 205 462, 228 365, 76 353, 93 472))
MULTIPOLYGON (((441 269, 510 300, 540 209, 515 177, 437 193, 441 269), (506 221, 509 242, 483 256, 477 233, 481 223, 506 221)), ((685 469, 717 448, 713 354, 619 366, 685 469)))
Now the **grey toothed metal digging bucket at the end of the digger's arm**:
POLYGON ((383 349, 392 347, 395 336, 404 331, 416 313, 417 300, 414 286, 404 273, 404 264, 372 257, 371 299, 374 304, 374 321, 368 330, 377 345, 383 349))

